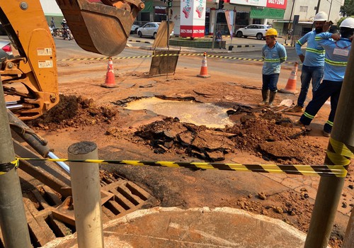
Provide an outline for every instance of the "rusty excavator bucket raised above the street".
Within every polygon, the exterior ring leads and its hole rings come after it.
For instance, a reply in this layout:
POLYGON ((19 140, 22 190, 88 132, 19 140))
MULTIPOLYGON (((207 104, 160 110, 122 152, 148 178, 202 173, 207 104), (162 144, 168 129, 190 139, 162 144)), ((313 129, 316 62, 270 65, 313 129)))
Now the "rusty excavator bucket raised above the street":
POLYGON ((139 0, 56 0, 76 43, 84 50, 108 57, 124 49, 137 13, 139 0))

